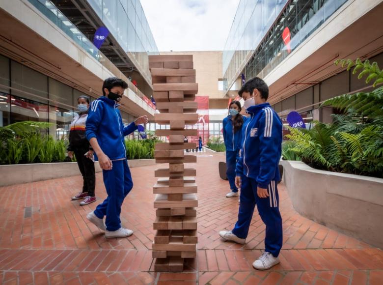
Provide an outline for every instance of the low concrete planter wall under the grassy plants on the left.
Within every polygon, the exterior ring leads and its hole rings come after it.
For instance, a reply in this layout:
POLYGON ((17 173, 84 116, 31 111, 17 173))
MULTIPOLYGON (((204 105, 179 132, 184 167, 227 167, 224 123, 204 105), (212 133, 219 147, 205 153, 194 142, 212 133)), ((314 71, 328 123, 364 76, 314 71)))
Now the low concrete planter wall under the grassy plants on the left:
MULTIPOLYGON (((154 165, 155 159, 128 160, 130 168, 154 165)), ((94 163, 96 172, 101 172, 98 162, 94 163)), ((0 186, 49 180, 80 175, 76 162, 32 163, 0 166, 0 186)))

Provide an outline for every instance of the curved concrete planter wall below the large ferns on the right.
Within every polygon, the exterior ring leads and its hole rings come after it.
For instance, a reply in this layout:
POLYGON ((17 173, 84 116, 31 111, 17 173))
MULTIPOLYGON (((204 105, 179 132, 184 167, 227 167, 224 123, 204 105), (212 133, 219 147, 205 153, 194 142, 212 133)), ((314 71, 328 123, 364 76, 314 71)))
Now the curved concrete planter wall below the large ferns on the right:
POLYGON ((294 208, 329 228, 383 248, 383 179, 281 161, 294 208))

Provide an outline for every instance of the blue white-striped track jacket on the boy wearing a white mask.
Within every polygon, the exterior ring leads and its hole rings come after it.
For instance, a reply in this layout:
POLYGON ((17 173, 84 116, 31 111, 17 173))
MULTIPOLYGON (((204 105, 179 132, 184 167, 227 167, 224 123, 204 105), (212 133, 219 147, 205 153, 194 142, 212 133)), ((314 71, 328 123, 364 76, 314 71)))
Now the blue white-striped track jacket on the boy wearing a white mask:
POLYGON ((242 126, 242 150, 236 175, 255 179, 259 187, 267 189, 271 181, 280 180, 282 121, 269 103, 251 106, 246 112, 250 117, 242 126))

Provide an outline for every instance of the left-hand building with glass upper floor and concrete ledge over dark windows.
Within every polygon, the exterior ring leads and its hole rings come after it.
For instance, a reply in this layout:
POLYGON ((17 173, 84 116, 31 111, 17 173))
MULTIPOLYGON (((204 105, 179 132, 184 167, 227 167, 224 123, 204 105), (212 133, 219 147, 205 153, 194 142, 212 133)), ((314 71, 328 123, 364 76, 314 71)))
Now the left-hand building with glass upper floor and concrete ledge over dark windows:
POLYGON ((101 96, 108 77, 128 82, 124 123, 153 119, 148 55, 158 50, 139 0, 1 0, 0 19, 0 126, 52 122, 49 134, 60 139, 77 98, 101 96), (99 27, 109 35, 97 49, 99 27))

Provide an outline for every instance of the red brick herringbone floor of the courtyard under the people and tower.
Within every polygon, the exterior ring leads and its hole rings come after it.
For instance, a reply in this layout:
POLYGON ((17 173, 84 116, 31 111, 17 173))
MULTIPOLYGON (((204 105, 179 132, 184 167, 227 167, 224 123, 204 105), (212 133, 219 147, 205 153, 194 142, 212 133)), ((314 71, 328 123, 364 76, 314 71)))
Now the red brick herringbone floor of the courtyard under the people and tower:
MULTIPOLYGON (((133 236, 106 239, 85 215, 97 205, 69 198, 81 177, 0 188, 0 281, 2 284, 383 284, 383 252, 300 216, 279 185, 284 244, 280 264, 260 272, 251 263, 264 248, 265 226, 254 213, 246 245, 225 242, 218 231, 236 222, 238 199, 225 198, 218 175, 224 156, 200 156, 197 258, 185 273, 153 272, 155 219, 152 186, 158 166, 132 169, 135 186, 121 220, 133 236)), ((97 174, 96 195, 106 197, 97 174)))

